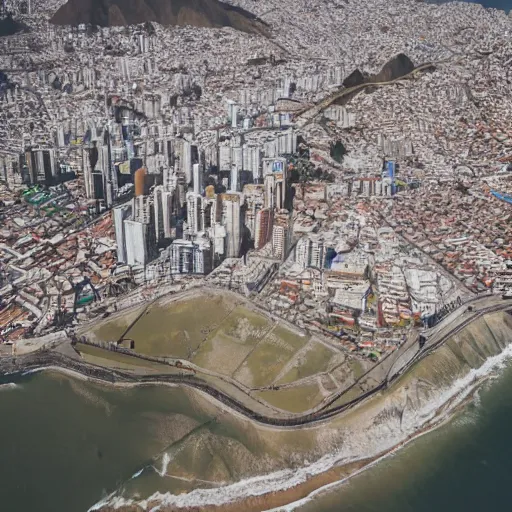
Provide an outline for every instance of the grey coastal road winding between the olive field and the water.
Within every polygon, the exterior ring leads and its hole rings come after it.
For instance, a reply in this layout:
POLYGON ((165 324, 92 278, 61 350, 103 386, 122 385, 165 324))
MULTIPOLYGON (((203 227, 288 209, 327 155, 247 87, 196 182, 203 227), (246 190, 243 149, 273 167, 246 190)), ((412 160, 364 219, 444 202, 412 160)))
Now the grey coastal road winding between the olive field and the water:
POLYGON ((10 357, 0 359, 0 384, 10 382, 16 375, 22 375, 26 372, 45 368, 62 368, 63 370, 73 371, 92 379, 113 384, 160 383, 185 385, 208 394, 233 412, 241 414, 258 423, 274 427, 299 428, 326 421, 353 408, 379 391, 389 387, 389 385, 403 375, 411 365, 426 357, 450 337, 467 327, 471 322, 487 313, 507 310, 512 311, 512 300, 504 300, 498 296, 479 297, 470 301, 470 303, 464 304, 428 332, 427 341, 421 350, 414 348, 414 345, 406 346, 404 352, 400 354, 399 358, 396 359, 391 366, 386 378, 382 379, 378 385, 347 403, 338 406, 333 405, 332 407, 306 414, 285 415, 283 413, 283 417, 268 416, 252 410, 247 407, 242 400, 236 399, 228 393, 216 389, 195 375, 163 374, 138 376, 124 371, 88 364, 51 350, 36 352, 18 358, 10 357), (472 311, 468 311, 468 306, 472 307, 472 311))

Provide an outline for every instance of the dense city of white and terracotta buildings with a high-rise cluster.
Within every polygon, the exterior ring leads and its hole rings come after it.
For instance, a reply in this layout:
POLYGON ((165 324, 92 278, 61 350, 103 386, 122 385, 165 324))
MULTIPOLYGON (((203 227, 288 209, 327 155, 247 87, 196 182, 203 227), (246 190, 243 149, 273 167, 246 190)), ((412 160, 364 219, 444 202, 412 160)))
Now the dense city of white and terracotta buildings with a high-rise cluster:
POLYGON ((378 360, 510 293, 502 11, 237 0, 265 37, 60 5, 3 6, 0 345, 209 286, 378 360))

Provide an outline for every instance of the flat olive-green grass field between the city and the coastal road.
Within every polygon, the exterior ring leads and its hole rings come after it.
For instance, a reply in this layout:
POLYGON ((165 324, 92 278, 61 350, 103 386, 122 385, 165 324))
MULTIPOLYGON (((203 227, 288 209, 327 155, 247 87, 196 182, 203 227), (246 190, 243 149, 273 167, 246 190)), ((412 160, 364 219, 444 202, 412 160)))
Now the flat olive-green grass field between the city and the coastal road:
MULTIPOLYGON (((105 319, 95 327, 94 337, 117 339, 142 311, 132 311, 127 318, 105 319)), ((205 370, 233 377, 248 388, 271 386, 277 378, 284 384, 314 376, 327 371, 339 357, 335 350, 255 310, 242 297, 211 291, 152 304, 125 338, 134 340, 139 354, 189 360, 205 370)), ((317 386, 313 388, 308 384, 279 393, 295 410, 301 407, 299 402, 308 408, 318 395, 317 386)), ((268 392, 272 400, 277 400, 275 394, 268 392)))

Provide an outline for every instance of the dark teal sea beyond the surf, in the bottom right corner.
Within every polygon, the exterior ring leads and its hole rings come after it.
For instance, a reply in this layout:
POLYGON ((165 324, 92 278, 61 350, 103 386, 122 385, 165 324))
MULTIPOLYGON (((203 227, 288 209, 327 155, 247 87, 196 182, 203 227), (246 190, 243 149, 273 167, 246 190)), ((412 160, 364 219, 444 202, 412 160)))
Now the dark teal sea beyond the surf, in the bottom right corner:
POLYGON ((476 400, 300 512, 472 512, 510 509, 512 363, 476 400))

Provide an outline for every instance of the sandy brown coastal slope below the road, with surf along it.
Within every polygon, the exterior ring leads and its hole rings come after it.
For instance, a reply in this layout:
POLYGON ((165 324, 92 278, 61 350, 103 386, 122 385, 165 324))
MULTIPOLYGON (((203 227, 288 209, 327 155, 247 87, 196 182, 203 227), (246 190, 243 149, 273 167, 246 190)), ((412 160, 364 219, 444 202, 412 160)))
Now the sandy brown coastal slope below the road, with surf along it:
MULTIPOLYGON (((224 410, 227 423, 222 432, 195 432, 158 459, 155 467, 161 470, 141 476, 144 501, 137 479, 132 479, 96 509, 139 512, 158 506, 162 512, 249 512, 304 498, 446 421, 502 367, 511 355, 511 343, 509 313, 477 318, 389 389, 322 425, 272 429, 224 410), (205 453, 208 461, 203 464, 199 461, 204 462, 205 453), (179 491, 162 478, 186 479, 192 474, 193 488, 179 491), (202 490, 200 481, 223 485, 202 490)), ((197 397, 197 404, 209 414, 219 414, 219 405, 204 397, 197 397)))

